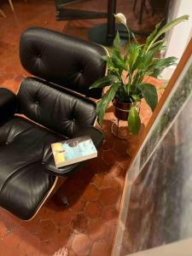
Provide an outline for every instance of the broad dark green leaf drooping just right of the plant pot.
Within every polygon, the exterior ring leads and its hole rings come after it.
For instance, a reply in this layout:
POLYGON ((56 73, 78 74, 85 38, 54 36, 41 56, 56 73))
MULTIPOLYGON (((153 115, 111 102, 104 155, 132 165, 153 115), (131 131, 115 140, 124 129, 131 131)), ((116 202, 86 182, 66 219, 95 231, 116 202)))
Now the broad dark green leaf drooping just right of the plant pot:
POLYGON ((148 106, 154 111, 154 108, 158 102, 157 90, 153 84, 141 84, 141 90, 143 92, 143 97, 148 103, 148 106))

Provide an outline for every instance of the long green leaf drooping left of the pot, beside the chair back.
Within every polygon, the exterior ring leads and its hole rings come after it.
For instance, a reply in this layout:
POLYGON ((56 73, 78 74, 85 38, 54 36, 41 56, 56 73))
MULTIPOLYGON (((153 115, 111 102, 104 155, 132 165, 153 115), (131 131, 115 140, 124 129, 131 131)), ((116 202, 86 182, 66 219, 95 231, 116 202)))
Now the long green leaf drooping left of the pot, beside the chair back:
POLYGON ((108 104, 113 100, 117 90, 119 89, 120 83, 113 84, 104 96, 102 100, 96 103, 96 115, 98 116, 98 123, 102 125, 102 119, 108 108, 108 104))

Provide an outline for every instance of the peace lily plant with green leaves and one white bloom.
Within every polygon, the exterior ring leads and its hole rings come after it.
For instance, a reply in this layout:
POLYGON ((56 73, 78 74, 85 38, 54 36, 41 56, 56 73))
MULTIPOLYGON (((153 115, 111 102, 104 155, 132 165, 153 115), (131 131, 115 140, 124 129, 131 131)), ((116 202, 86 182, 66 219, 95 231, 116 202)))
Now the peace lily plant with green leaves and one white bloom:
POLYGON ((144 98, 154 111, 158 102, 157 89, 150 82, 146 83, 144 78, 146 76, 157 78, 165 67, 175 65, 177 61, 177 58, 173 56, 160 58, 160 51, 166 47, 162 35, 173 26, 188 19, 188 15, 183 15, 165 26, 162 26, 162 22, 158 23, 145 44, 138 44, 134 33, 126 25, 125 15, 115 15, 115 21, 126 27, 129 38, 122 53, 119 32, 117 32, 113 48, 108 49, 108 56, 102 56, 102 59, 107 62, 108 75, 90 86, 90 88, 108 86, 108 90, 96 106, 100 125, 102 125, 102 119, 109 103, 115 99, 119 102, 130 103, 127 114, 128 127, 133 134, 138 133, 141 126, 138 103, 144 98))

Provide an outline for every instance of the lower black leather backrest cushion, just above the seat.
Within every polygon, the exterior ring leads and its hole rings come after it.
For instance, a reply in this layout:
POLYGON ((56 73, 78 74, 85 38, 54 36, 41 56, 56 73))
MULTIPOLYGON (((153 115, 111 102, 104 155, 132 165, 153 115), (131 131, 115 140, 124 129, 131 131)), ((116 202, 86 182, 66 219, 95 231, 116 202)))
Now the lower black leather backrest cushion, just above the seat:
POLYGON ((55 90, 36 79, 24 79, 17 98, 19 113, 66 137, 73 137, 96 119, 95 102, 55 90))

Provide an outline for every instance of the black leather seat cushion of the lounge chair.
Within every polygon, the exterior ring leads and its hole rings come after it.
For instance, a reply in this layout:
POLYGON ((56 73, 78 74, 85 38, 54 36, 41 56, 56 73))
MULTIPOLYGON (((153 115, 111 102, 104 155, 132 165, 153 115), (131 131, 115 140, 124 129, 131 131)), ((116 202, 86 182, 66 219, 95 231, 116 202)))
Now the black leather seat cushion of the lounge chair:
POLYGON ((50 143, 63 137, 20 117, 0 126, 0 206, 32 218, 56 177, 44 171, 50 143))

